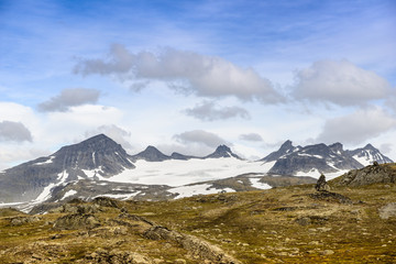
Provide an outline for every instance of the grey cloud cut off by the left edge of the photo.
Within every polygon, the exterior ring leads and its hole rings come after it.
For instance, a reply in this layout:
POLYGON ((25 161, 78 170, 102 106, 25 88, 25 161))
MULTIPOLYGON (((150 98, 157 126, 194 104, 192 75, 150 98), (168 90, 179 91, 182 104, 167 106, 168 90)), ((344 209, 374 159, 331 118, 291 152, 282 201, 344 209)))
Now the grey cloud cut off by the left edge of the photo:
POLYGON ((0 122, 0 141, 32 142, 32 134, 21 122, 0 122))

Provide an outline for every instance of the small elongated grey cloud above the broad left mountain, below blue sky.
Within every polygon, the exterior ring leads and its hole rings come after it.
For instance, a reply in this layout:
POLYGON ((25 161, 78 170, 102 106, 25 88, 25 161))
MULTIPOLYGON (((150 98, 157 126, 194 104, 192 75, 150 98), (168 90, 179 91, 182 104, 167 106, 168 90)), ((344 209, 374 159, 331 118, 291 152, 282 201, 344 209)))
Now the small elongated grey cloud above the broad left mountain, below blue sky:
POLYGON ((62 90, 61 95, 51 98, 37 106, 40 111, 65 112, 70 107, 82 106, 86 103, 96 103, 99 99, 100 91, 86 88, 70 88, 62 90))

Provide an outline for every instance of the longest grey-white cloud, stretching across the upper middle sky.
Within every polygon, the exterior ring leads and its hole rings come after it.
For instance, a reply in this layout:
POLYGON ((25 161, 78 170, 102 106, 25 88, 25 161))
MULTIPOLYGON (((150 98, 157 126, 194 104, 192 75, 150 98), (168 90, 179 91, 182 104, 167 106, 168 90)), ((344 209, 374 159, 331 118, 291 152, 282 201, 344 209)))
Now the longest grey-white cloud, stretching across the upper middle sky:
MULTIPOLYGON (((266 103, 283 101, 268 79, 252 68, 242 68, 217 56, 163 48, 130 53, 123 45, 112 45, 108 59, 81 59, 76 74, 111 75, 121 81, 162 80, 168 87, 199 97, 234 96, 241 100, 256 99, 266 103)), ((144 86, 139 85, 139 89, 144 86)))

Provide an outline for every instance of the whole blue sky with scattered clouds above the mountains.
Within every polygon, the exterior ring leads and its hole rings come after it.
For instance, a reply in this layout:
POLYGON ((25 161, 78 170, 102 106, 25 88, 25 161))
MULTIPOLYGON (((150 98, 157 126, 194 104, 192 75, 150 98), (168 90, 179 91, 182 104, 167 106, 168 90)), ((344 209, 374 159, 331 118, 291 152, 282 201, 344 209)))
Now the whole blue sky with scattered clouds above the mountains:
POLYGON ((396 160, 395 62, 393 0, 0 0, 0 169, 99 133, 130 154, 396 160))

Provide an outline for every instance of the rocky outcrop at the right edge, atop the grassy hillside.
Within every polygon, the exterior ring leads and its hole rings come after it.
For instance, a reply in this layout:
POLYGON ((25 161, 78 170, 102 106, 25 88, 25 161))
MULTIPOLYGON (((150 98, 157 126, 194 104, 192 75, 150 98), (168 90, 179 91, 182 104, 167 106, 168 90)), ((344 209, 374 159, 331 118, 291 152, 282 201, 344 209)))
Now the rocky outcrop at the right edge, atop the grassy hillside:
POLYGON ((374 163, 361 169, 351 170, 341 176, 341 186, 364 186, 370 184, 395 184, 396 170, 391 165, 374 163))

